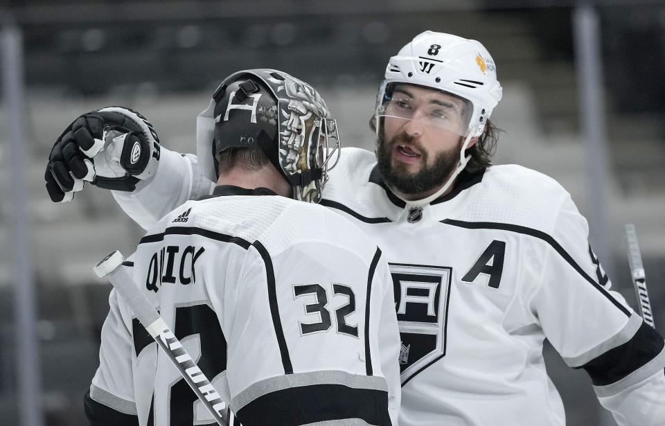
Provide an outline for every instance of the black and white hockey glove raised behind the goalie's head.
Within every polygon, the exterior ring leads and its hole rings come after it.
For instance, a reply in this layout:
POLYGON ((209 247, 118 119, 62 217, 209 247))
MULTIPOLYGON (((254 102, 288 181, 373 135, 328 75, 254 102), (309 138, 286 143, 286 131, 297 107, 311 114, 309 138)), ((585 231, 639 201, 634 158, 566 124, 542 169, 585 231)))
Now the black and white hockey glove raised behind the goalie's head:
POLYGON ((154 175, 159 138, 152 124, 125 107, 83 114, 53 144, 46 165, 46 190, 53 202, 67 202, 84 181, 100 188, 132 191, 154 175))

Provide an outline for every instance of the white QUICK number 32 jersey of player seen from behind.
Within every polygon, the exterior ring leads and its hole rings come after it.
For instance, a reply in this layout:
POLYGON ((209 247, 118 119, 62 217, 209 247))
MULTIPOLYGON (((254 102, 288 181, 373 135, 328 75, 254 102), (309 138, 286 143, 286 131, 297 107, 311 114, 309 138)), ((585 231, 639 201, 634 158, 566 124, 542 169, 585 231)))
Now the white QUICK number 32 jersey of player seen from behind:
MULTIPOLYGON (((214 195, 166 215, 127 265, 236 418, 396 424, 400 344, 380 249, 321 206, 265 188, 214 195)), ((115 291, 109 303, 91 423, 213 424, 115 291)))

